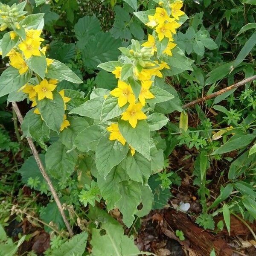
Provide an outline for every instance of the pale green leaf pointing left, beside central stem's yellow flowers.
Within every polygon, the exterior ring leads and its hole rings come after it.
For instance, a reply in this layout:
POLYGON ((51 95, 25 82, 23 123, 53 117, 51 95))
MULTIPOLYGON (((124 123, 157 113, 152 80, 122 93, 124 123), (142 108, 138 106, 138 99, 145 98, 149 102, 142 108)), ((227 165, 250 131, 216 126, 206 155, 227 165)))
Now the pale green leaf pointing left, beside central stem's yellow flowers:
POLYGON ((90 99, 78 108, 73 108, 70 111, 70 114, 78 114, 79 116, 88 116, 93 119, 100 119, 104 101, 104 97, 90 99))

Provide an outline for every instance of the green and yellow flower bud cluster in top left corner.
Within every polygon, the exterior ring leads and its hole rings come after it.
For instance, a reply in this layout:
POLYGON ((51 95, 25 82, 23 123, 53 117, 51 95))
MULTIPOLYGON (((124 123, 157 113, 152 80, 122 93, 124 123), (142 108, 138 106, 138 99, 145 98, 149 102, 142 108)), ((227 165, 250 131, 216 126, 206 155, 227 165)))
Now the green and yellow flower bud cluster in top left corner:
POLYGON ((19 5, 13 4, 8 6, 0 3, 0 31, 4 31, 7 28, 20 29, 20 20, 22 20, 27 12, 24 12, 19 8, 19 5))

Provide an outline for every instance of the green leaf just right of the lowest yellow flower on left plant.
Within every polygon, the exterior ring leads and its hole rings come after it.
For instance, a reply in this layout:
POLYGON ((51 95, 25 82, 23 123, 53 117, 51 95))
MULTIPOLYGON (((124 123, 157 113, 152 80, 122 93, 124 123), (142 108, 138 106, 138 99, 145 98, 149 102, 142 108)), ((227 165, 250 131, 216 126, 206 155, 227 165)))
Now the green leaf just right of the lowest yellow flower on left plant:
POLYGON ((59 137, 62 142, 68 149, 73 148, 76 136, 84 130, 85 127, 88 127, 89 124, 83 117, 80 116, 68 116, 67 120, 70 122, 70 126, 61 131, 59 137))

